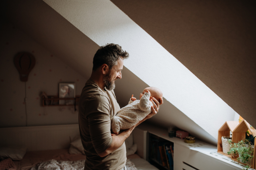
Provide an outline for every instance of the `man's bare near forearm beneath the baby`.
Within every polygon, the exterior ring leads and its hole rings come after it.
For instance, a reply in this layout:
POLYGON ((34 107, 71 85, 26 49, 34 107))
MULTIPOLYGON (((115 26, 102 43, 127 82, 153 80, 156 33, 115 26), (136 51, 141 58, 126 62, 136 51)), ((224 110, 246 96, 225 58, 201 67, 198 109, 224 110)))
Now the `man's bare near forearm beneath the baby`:
POLYGON ((130 130, 125 130, 119 135, 111 136, 113 141, 110 147, 108 147, 108 149, 105 150, 103 153, 100 153, 99 156, 104 157, 112 153, 113 151, 117 150, 120 146, 122 146, 122 144, 125 142, 125 139, 127 139, 130 136, 130 134, 131 134, 130 130))

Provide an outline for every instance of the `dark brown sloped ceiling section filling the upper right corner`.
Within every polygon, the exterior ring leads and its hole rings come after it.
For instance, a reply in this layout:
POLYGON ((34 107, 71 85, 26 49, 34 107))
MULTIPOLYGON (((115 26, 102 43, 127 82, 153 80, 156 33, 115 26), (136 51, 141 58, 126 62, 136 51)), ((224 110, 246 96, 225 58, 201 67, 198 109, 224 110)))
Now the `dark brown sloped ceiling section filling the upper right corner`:
POLYGON ((256 127, 255 0, 111 1, 256 127))

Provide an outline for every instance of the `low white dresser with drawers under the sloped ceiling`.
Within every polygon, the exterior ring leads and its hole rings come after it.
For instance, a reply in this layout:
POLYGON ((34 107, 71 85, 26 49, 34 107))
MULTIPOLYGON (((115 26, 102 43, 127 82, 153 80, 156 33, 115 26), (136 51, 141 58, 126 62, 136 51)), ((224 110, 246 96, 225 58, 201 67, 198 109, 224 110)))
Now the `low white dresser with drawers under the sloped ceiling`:
MULTIPOLYGON (((206 142, 196 140, 195 144, 185 143, 179 138, 169 138, 167 129, 159 128, 154 125, 143 123, 136 127, 144 132, 151 133, 174 143, 174 170, 241 170, 242 166, 232 161, 227 156, 217 153, 217 146, 213 146, 206 142)), ((138 137, 137 137, 138 138, 138 137)), ((147 137, 148 138, 148 137, 147 137)), ((144 148, 147 148, 148 154, 150 148, 145 139, 145 135, 141 136, 144 141, 144 148)), ((146 156, 148 158, 148 156, 146 156)), ((144 159, 146 159, 144 156, 144 159)), ((253 170, 253 169, 251 169, 253 170)))

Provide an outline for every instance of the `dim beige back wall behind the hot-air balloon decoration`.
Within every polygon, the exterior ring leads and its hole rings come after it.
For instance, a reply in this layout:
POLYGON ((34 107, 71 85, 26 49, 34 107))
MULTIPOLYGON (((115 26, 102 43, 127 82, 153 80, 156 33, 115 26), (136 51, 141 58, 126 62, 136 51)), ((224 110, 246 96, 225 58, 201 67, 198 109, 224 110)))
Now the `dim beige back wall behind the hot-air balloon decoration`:
POLYGON ((25 126, 26 113, 29 126, 78 123, 73 106, 42 107, 39 95, 41 91, 57 95, 59 82, 76 83, 76 95, 80 95, 85 78, 12 23, 3 24, 0 37, 0 127, 25 126), (36 60, 26 83, 20 81, 13 62, 20 51, 32 53, 36 60))

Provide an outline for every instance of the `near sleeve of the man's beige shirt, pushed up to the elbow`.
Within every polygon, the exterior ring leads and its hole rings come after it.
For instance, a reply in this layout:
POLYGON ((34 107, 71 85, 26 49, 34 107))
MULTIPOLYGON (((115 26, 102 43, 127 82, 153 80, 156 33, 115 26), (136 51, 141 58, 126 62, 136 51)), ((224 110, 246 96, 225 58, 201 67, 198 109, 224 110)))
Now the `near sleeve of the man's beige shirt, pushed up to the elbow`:
POLYGON ((96 152, 102 153, 112 143, 111 137, 111 104, 107 96, 96 94, 87 102, 87 119, 90 138, 96 152))

